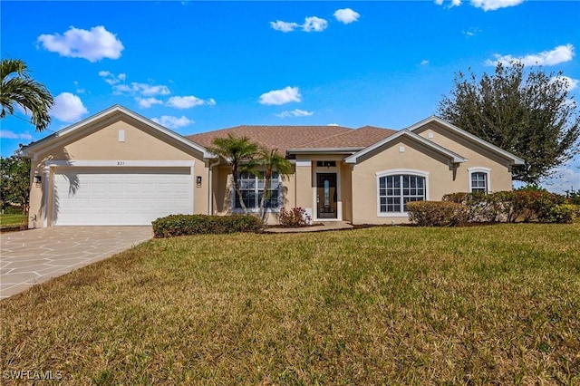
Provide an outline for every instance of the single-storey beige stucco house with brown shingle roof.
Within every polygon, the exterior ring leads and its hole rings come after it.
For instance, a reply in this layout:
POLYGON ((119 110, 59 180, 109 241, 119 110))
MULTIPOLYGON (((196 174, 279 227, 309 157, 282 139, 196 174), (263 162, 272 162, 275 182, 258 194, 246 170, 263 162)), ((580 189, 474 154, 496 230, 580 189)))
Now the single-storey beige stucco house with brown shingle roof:
MULTIPOLYGON (((304 207, 314 221, 408 221, 406 203, 459 191, 512 188, 523 160, 437 117, 404 130, 371 126, 238 126, 183 137, 122 106, 99 112, 22 150, 32 159, 30 227, 149 225, 169 214, 241 209, 229 167, 207 147, 247 136, 293 164, 274 175, 268 222, 280 207, 304 207)), ((248 211, 264 192, 240 176, 248 211)))

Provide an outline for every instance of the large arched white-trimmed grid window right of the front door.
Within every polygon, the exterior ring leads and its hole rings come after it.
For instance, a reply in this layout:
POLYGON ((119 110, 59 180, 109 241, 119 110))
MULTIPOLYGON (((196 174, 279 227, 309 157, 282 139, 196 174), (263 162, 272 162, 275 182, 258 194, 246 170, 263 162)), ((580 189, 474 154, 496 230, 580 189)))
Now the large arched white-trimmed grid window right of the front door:
POLYGON ((401 216, 407 212, 407 203, 427 199, 428 173, 396 171, 377 174, 378 215, 401 216))

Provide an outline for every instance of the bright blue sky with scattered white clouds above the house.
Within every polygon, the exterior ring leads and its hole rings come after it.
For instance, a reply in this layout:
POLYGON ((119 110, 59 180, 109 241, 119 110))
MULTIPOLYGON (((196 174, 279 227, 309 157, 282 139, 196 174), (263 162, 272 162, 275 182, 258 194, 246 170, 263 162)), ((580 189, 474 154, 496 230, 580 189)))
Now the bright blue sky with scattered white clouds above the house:
MULTIPOLYGON (((239 124, 402 129, 455 72, 540 63, 580 90, 580 2, 2 1, 0 54, 56 97, 49 130, 0 121, 1 153, 121 104, 181 134, 239 124)), ((580 158, 547 187, 580 189, 580 158)))

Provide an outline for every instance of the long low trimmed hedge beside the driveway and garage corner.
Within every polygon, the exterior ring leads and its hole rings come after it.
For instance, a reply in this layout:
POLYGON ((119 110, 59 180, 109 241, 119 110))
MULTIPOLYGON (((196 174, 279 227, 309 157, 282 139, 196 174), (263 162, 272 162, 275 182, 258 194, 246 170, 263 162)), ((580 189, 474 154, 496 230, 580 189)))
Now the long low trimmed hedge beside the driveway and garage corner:
POLYGON ((153 235, 157 238, 237 232, 260 233, 264 230, 262 220, 249 215, 169 215, 156 219, 152 225, 153 235))

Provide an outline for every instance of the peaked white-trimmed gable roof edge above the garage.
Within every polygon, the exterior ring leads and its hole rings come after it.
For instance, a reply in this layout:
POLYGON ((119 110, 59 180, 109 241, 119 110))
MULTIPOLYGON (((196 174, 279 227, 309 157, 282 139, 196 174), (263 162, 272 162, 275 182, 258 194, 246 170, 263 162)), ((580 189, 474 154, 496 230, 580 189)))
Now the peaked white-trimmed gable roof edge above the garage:
POLYGON ((188 140, 187 138, 179 135, 177 132, 169 130, 164 126, 155 123, 154 121, 150 121, 149 119, 121 105, 111 106, 109 109, 106 109, 95 115, 92 115, 91 117, 86 118, 80 122, 74 123, 73 125, 68 126, 63 130, 56 131, 55 133, 47 137, 44 137, 42 140, 33 142, 30 145, 24 147, 21 150, 21 154, 24 157, 34 157, 34 153, 50 150, 54 146, 57 146, 59 143, 62 143, 64 140, 82 137, 83 131, 89 130, 96 123, 106 120, 114 120, 115 118, 121 119, 122 117, 127 117, 132 120, 138 121, 146 125, 151 130, 157 130, 164 136, 168 137, 170 140, 175 140, 180 144, 185 145, 187 148, 201 152, 204 157, 211 156, 208 150, 206 150, 202 146, 199 146, 197 143, 188 140))

